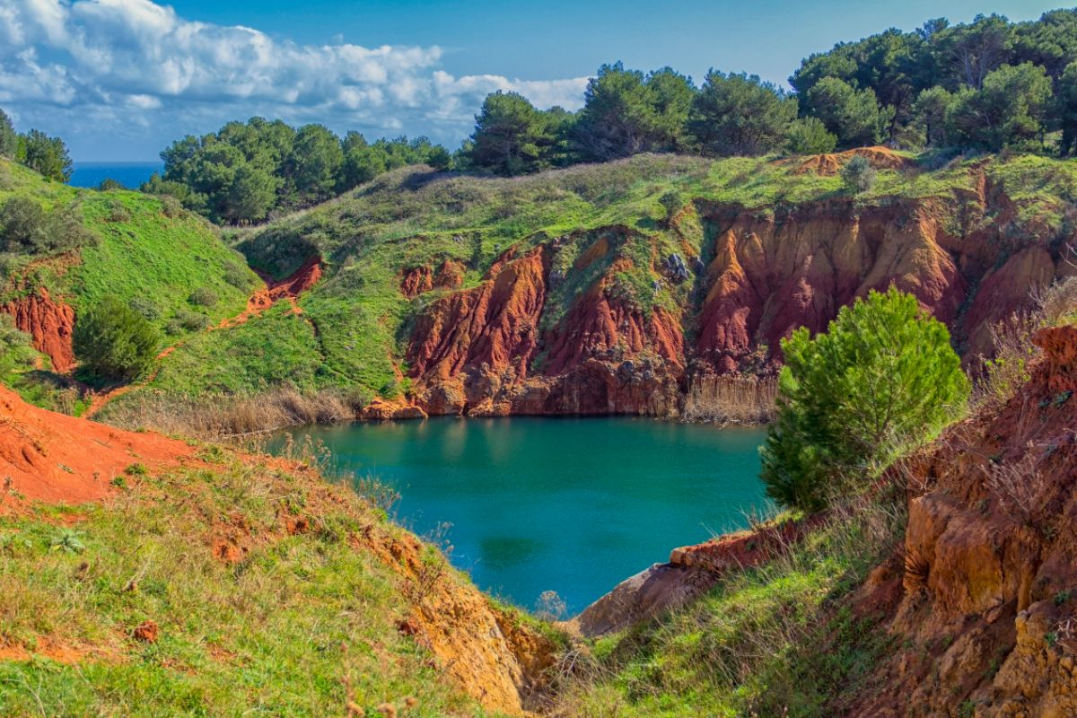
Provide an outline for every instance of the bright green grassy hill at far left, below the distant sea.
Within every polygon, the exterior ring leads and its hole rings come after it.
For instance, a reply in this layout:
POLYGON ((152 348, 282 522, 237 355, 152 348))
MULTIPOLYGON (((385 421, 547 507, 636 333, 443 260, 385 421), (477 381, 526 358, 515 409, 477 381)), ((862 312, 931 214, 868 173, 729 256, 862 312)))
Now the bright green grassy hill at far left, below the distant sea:
MULTIPOLYGON (((76 313, 109 294, 149 308, 162 334, 162 349, 197 334, 200 325, 233 316, 247 305, 258 280, 243 257, 225 247, 216 230, 187 212, 137 192, 80 189, 0 159, 0 202, 15 196, 46 210, 75 207, 96 244, 52 257, 10 256, 0 274, 0 302, 45 286, 76 313), (172 215, 172 216, 170 216, 172 215), (216 296, 212 306, 190 300, 195 290, 216 296)), ((5 378, 28 400, 55 406, 60 383, 46 372, 5 378)), ((71 407, 68 407, 69 409, 71 407)))

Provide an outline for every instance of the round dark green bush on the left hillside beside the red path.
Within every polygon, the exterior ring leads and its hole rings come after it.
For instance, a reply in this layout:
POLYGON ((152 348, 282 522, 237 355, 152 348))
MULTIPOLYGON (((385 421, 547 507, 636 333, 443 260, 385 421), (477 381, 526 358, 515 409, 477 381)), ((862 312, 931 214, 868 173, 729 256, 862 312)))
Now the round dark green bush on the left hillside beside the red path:
POLYGON ((157 332, 114 296, 82 313, 74 325, 74 351, 83 366, 104 379, 134 379, 157 355, 157 332))

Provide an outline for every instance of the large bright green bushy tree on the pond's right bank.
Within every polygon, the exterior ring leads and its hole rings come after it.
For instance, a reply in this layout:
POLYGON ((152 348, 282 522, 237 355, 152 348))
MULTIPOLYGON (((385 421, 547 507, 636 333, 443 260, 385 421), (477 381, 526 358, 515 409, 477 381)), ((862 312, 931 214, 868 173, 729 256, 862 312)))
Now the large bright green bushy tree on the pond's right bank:
POLYGON ((968 378, 946 326, 891 287, 843 307, 826 333, 782 341, 778 419, 761 450, 767 493, 819 510, 961 414, 968 378))

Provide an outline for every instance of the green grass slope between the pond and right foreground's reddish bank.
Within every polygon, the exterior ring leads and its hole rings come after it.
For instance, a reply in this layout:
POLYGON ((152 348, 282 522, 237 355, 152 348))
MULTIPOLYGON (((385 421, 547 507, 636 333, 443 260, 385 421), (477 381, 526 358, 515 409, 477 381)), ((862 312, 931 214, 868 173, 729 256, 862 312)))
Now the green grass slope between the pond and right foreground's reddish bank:
POLYGON ((903 529, 895 506, 841 515, 687 608, 599 639, 559 707, 618 718, 835 715, 891 648, 878 617, 855 618, 842 599, 903 529))

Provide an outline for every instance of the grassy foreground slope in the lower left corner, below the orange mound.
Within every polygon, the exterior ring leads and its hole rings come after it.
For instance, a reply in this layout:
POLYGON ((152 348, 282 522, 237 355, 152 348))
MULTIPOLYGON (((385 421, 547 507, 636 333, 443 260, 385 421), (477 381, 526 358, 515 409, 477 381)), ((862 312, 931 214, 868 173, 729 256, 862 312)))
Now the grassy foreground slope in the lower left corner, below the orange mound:
POLYGON ((480 713, 396 628, 402 579, 358 538, 401 531, 383 512, 311 471, 201 456, 212 464, 122 477, 104 505, 0 517, 0 647, 33 653, 0 661, 0 713, 325 716, 350 699, 380 715, 408 696, 402 715, 480 713), (288 535, 279 512, 310 530, 288 535), (237 526, 250 552, 214 558, 237 526), (132 637, 148 620, 156 643, 132 637), (57 648, 79 662, 48 658, 57 648))

